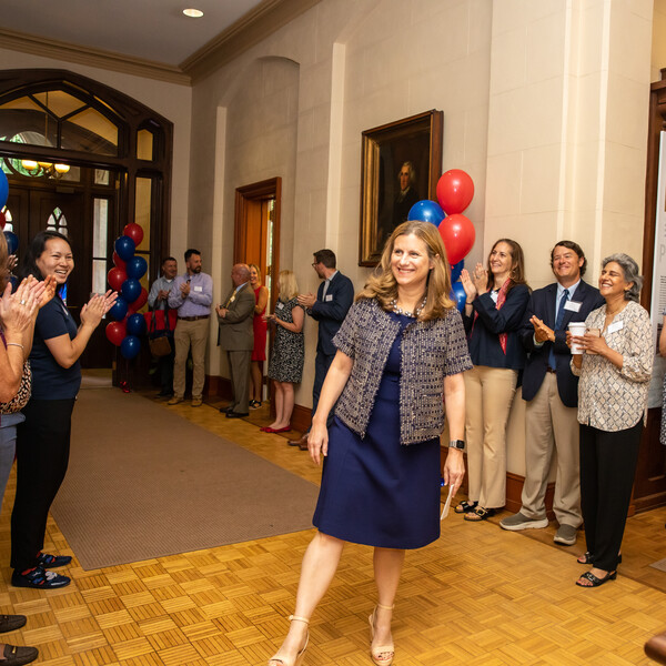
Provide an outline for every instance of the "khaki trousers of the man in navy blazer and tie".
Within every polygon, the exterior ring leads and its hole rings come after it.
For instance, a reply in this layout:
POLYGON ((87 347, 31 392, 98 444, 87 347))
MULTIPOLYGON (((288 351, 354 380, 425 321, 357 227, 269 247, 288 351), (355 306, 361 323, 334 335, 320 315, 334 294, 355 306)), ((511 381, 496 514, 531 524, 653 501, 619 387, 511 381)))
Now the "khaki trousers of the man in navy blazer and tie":
POLYGON ((561 525, 579 527, 581 452, 578 410, 566 407, 557 391, 557 375, 547 372, 538 393, 525 406, 525 485, 521 513, 546 517, 546 487, 553 453, 557 450, 557 476, 553 511, 561 525))

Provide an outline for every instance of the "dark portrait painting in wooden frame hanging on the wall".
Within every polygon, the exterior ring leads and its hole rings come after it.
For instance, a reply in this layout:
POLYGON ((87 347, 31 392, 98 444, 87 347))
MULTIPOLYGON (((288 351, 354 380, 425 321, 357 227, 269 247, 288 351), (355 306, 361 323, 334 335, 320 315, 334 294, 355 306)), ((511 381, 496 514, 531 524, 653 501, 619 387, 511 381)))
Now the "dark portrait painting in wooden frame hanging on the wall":
POLYGON ((435 196, 443 129, 444 113, 432 110, 363 132, 360 266, 375 266, 410 209, 435 196))

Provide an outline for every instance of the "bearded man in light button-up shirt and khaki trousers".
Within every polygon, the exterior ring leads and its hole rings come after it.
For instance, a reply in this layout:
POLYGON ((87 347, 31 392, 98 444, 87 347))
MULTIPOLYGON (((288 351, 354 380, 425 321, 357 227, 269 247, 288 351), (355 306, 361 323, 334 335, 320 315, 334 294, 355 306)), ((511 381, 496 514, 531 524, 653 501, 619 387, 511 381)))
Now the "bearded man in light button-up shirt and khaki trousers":
POLYGON ((185 252, 184 275, 173 281, 169 292, 169 307, 178 310, 178 323, 173 341, 175 362, 173 366, 173 397, 167 403, 176 405, 183 402, 185 393, 185 365, 188 353, 192 350, 192 406, 202 403, 205 379, 205 344, 209 335, 209 319, 213 302, 213 279, 201 272, 201 252, 190 249, 185 252))

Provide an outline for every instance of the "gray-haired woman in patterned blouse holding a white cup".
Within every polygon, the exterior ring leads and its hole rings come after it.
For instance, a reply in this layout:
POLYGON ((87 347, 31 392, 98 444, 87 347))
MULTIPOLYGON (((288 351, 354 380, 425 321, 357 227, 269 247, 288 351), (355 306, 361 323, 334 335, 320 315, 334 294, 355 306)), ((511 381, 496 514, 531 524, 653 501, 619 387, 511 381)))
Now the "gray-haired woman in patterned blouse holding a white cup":
POLYGON ((638 304, 643 278, 626 254, 602 263, 599 292, 606 304, 585 320, 584 336, 571 336, 583 353, 572 353, 578 384, 581 424, 581 504, 592 564, 576 585, 597 587, 614 581, 647 407, 653 367, 652 324, 638 304))

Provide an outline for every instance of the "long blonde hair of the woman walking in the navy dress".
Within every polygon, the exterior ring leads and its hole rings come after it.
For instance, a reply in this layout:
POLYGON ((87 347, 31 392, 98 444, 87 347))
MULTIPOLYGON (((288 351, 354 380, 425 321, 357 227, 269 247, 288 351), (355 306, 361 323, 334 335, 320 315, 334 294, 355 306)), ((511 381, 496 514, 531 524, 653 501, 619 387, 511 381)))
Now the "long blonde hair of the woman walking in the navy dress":
POLYGON ((425 243, 428 260, 433 262, 425 283, 425 306, 418 314, 420 321, 428 321, 443 316, 445 310, 455 307, 451 300, 451 266, 446 259, 446 249, 437 228, 431 222, 411 220, 396 226, 384 245, 382 259, 374 273, 369 278, 363 291, 356 295, 360 299, 376 299, 380 305, 392 310, 392 301, 397 300, 397 283, 391 270, 391 255, 395 239, 401 235, 414 234, 425 243))

